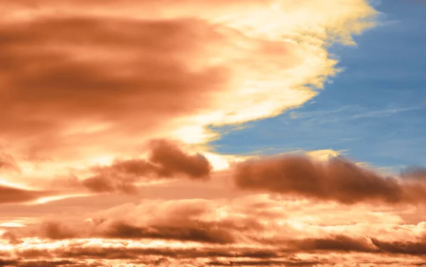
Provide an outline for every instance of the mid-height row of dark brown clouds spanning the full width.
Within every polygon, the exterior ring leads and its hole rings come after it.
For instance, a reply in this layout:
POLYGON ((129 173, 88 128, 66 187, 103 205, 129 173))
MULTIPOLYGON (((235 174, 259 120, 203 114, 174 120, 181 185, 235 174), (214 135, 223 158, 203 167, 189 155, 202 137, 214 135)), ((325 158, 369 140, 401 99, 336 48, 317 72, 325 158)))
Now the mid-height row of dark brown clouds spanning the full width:
MULTIPOLYGON (((83 193, 82 188, 94 193, 119 192, 135 194, 139 186, 155 182, 184 179, 189 182, 204 181, 205 190, 217 187, 210 180, 212 164, 200 153, 187 153, 175 141, 155 139, 148 143, 145 158, 115 160, 110 165, 94 165, 87 168, 89 175, 72 176, 72 179, 46 183, 43 192, 4 187, 3 202, 7 196, 11 202, 34 200, 41 195, 48 197, 49 190, 55 195, 83 193), (58 183, 66 183, 67 186, 58 183), (62 192, 62 193, 60 193, 62 192), (18 197, 20 195, 21 197, 18 197)), ((219 175, 219 173, 215 173, 219 175)), ((426 202, 426 176, 423 168, 403 170, 399 176, 383 176, 376 171, 337 156, 318 160, 310 156, 271 156, 251 158, 231 164, 222 173, 226 182, 224 190, 275 193, 322 201, 336 201, 346 205, 360 202, 380 202, 388 205, 426 202)), ((43 188, 43 184, 42 184, 43 188)))

